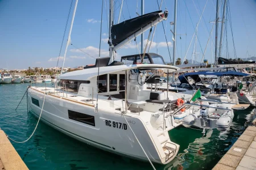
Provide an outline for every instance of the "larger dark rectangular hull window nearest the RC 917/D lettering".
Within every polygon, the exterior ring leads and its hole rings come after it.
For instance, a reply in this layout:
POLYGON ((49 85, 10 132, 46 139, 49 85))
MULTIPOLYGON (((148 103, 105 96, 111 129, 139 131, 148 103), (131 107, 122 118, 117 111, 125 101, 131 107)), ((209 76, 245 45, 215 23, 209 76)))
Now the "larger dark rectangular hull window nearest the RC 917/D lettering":
POLYGON ((87 125, 95 126, 94 116, 89 114, 68 110, 68 118, 78 122, 82 122, 87 125))

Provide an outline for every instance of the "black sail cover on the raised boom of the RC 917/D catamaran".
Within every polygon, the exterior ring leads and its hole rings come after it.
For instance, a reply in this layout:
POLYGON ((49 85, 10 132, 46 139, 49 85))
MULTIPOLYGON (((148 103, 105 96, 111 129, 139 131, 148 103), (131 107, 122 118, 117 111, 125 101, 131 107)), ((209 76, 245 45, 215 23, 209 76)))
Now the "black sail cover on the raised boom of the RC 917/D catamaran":
POLYGON ((137 32, 139 29, 145 27, 147 24, 150 24, 152 21, 159 17, 160 12, 162 11, 151 12, 113 25, 111 29, 112 44, 114 46, 118 45, 120 42, 133 35, 133 33, 137 32))

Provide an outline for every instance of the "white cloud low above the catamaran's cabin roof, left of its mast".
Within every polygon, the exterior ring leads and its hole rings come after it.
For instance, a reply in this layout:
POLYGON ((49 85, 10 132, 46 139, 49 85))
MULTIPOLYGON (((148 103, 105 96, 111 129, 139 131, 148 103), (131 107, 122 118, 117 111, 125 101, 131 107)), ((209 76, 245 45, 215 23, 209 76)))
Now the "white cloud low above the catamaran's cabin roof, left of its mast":
MULTIPOLYGON (((86 48, 80 48, 79 49, 71 49, 70 50, 73 53, 87 53, 92 57, 98 57, 99 49, 95 48, 94 46, 87 46, 86 48), (81 52, 82 51, 82 52, 81 52)), ((101 57, 108 57, 109 56, 109 51, 105 49, 101 49, 101 57)))

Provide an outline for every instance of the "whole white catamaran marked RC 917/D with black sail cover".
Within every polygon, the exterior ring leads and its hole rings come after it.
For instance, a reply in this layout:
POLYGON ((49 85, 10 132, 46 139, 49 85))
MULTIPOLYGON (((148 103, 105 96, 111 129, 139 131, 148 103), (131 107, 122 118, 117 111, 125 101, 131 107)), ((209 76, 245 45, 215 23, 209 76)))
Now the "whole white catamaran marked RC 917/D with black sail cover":
MULTIPOLYGON (((112 1, 110 4, 113 5, 112 1)), ((168 11, 156 11, 112 25, 110 57, 97 59, 95 67, 60 75, 60 88, 28 88, 31 112, 40 116, 42 111, 40 118, 46 124, 102 150, 160 164, 169 163, 175 158, 179 145, 171 141, 168 130, 181 122, 175 121, 170 112, 164 114, 168 103, 145 101, 163 100, 164 93, 152 93, 146 90, 146 84, 138 82, 143 82, 143 70, 161 69, 171 73, 179 68, 154 64, 121 65, 113 58, 115 49, 132 40, 127 37, 140 35, 165 20, 167 15, 168 11), (137 77, 138 80, 133 80, 137 77)))

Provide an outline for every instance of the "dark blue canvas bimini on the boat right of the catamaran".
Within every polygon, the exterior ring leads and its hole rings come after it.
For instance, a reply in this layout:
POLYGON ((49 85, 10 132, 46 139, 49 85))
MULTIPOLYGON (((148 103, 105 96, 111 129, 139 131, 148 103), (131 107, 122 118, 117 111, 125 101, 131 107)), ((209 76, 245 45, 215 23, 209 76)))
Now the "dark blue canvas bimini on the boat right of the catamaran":
POLYGON ((200 71, 194 73, 185 73, 179 76, 180 83, 188 84, 188 76, 192 78, 196 83, 201 82, 199 75, 214 75, 214 76, 248 76, 250 74, 237 72, 237 71, 226 71, 226 72, 211 72, 211 71, 200 71))

